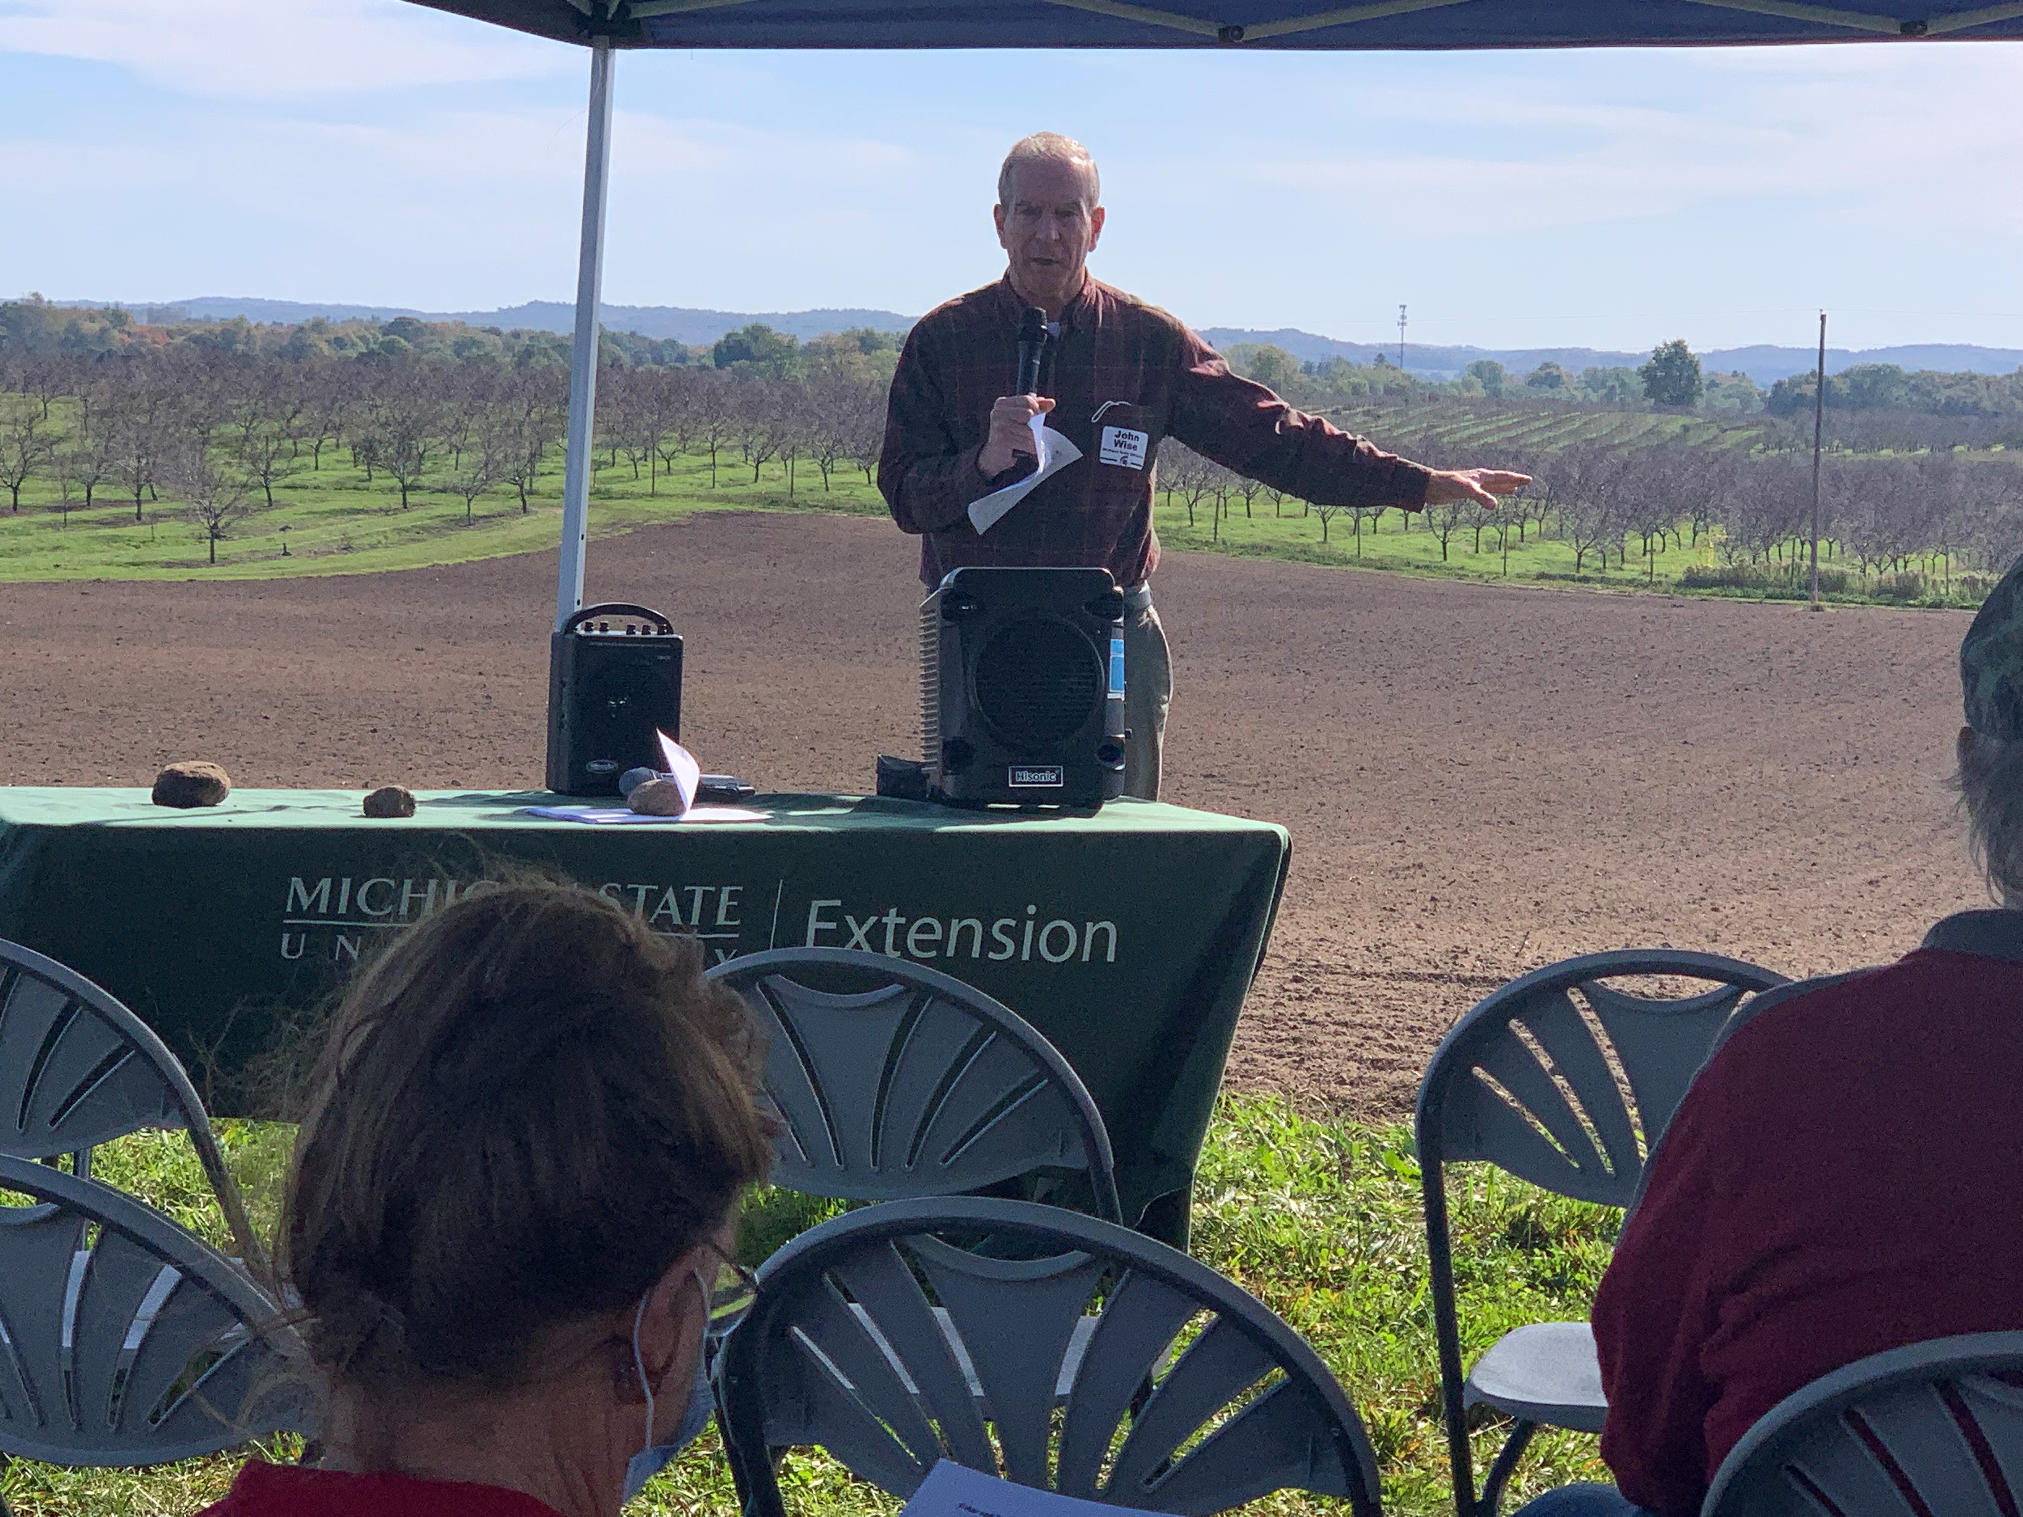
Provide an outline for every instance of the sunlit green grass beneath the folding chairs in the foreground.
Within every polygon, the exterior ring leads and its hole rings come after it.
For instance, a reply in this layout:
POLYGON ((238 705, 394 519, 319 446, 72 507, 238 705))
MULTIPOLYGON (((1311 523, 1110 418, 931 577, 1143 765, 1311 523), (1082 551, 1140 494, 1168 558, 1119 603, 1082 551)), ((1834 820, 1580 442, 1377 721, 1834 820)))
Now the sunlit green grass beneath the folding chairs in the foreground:
MULTIPOLYGON (((249 1187, 255 1218, 271 1226, 287 1129, 225 1123, 223 1141, 249 1187)), ((117 1145, 101 1173, 166 1206, 212 1240, 223 1224, 204 1206, 202 1175, 176 1135, 117 1145)), ((1196 1183, 1194 1252, 1240 1280, 1293 1323, 1327 1361, 1370 1426, 1384 1468, 1384 1509, 1434 1517, 1446 1505, 1438 1424, 1426 1244, 1418 1163, 1400 1127, 1368 1129, 1295 1112, 1270 1098, 1226 1096, 1196 1183)), ((1461 1315, 1469 1353, 1519 1323, 1580 1319, 1618 1226, 1618 1214, 1562 1201, 1483 1167, 1450 1179, 1461 1315)), ((757 1262, 833 1203, 771 1191, 755 1197, 738 1252, 757 1262)), ((1501 1430, 1477 1432, 1479 1468, 1501 1430)), ((156 1470, 55 1470, 16 1462, 0 1495, 22 1517, 174 1517, 214 1501, 237 1456, 156 1470)), ((787 1460, 787 1503, 809 1517, 888 1517, 898 1509, 821 1456, 787 1460)), ((1606 1479, 1592 1438, 1542 1434, 1517 1497, 1574 1479, 1606 1479)), ((1281 1493, 1250 1511, 1319 1517, 1337 1503, 1281 1493)), ((627 1511, 653 1517, 730 1517, 736 1503, 714 1432, 653 1481, 627 1511)))

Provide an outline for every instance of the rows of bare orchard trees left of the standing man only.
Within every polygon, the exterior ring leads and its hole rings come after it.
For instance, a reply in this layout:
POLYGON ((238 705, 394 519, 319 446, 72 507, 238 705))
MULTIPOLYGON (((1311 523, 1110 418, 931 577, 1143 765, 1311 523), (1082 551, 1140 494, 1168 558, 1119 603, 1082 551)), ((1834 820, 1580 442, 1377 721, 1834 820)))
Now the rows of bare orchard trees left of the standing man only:
MULTIPOLYGON (((838 467, 866 477, 884 427, 884 384, 848 366, 801 378, 753 370, 607 366, 597 449, 609 467, 659 492, 684 457, 783 465, 789 494, 811 465, 827 489, 838 467)), ((475 516, 483 496, 520 510, 558 469, 568 374, 556 364, 287 360, 202 346, 109 358, 0 354, 0 492, 18 512, 30 481, 55 510, 129 502, 184 506, 210 544, 289 481, 348 457, 401 504, 447 494, 475 516)))

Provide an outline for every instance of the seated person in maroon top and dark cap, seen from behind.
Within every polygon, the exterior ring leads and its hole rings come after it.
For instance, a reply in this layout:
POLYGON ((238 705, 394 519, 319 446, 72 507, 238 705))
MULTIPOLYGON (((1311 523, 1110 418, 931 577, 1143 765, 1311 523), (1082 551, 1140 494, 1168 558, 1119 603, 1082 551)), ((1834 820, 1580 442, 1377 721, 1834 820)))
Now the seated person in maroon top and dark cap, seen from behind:
POLYGON ((1616 1487, 1521 1517, 1693 1517, 1748 1426, 1883 1349, 2023 1327, 2023 562, 1960 647, 1956 785, 1997 910, 1722 1032, 1594 1299, 1616 1487))

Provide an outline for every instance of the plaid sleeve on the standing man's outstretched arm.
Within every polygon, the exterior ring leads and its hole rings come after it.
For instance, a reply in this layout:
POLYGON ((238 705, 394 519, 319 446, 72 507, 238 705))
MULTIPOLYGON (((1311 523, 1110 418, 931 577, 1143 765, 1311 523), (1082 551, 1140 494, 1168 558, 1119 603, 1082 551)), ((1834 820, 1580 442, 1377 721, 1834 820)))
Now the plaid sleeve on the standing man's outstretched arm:
POLYGON ((1240 374, 1194 332, 1183 332, 1171 433, 1196 453, 1315 506, 1426 502, 1422 463, 1309 417, 1240 374))

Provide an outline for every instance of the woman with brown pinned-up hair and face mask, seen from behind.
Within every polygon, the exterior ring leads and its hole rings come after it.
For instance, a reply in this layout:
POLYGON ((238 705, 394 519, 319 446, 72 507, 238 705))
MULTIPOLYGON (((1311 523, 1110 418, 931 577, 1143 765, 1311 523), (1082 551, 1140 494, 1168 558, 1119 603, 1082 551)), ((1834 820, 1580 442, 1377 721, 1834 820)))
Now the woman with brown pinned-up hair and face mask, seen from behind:
POLYGON ((759 1068, 700 947, 587 890, 415 926, 346 993, 289 1173, 322 1458, 249 1462, 206 1517, 615 1513, 708 1420, 759 1068))

